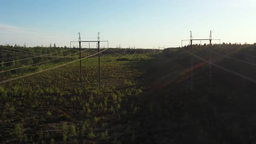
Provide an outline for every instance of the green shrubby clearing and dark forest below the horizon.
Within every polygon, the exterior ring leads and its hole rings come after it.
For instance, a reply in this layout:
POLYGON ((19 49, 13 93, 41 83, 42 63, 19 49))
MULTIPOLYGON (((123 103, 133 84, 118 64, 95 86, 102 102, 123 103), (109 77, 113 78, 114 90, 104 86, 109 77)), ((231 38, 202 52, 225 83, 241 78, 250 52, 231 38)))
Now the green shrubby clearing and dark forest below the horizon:
POLYGON ((0 46, 0 143, 256 142, 256 43, 97 50, 0 46))

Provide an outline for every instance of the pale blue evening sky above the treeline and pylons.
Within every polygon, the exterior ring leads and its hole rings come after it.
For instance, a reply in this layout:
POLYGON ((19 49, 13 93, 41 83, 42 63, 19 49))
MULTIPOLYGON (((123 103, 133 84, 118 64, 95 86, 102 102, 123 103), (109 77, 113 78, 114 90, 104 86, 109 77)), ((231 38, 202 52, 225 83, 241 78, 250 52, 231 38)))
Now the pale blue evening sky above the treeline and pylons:
MULTIPOLYGON (((221 39, 221 43, 256 43, 256 0, 0 0, 0 3, 0 45, 69 46, 70 41, 78 38, 77 33, 81 33, 82 40, 97 40, 99 32, 100 38, 109 41, 109 47, 166 48, 181 46, 182 39, 189 39, 190 30, 194 39, 209 38, 213 30, 212 38, 221 39)), ((82 46, 88 47, 88 43, 82 46)), ((96 47, 96 43, 90 46, 96 47)))

